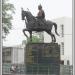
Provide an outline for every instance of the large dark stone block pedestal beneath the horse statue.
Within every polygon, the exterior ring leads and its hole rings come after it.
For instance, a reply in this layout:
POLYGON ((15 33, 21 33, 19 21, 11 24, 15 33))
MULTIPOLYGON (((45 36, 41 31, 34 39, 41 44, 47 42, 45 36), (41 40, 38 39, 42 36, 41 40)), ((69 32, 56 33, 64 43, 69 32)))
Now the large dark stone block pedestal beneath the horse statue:
POLYGON ((25 49, 26 74, 60 75, 60 45, 31 43, 25 49))

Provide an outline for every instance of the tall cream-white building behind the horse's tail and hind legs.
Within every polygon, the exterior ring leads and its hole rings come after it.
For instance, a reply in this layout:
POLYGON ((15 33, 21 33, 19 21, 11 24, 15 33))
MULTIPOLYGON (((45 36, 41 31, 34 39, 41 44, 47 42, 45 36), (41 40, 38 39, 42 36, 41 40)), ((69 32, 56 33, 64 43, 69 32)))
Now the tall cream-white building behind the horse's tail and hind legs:
MULTIPOLYGON (((57 23, 57 31, 60 34, 60 37, 57 36, 54 32, 54 27, 52 28, 52 32, 55 34, 57 42, 61 45, 61 59, 70 60, 70 63, 72 64, 72 18, 61 17, 53 19, 52 21, 57 23), (63 36, 62 25, 64 28, 63 36)), ((51 37, 46 32, 44 33, 44 42, 51 42, 51 37)))

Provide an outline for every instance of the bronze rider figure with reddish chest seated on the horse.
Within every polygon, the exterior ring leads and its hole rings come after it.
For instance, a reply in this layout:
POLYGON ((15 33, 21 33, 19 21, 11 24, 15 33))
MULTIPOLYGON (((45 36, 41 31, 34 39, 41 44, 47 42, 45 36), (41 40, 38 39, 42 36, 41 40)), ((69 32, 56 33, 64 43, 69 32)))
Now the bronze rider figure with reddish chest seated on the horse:
POLYGON ((37 18, 37 22, 41 25, 41 24, 46 24, 46 20, 45 20, 45 13, 44 13, 44 10, 42 9, 42 6, 41 4, 38 6, 38 14, 36 16, 37 18))

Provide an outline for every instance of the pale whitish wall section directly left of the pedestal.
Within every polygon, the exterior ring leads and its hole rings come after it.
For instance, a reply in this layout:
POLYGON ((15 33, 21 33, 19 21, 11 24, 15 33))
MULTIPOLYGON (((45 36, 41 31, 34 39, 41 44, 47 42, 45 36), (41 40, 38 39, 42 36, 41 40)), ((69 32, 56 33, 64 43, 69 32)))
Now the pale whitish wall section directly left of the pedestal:
POLYGON ((12 52, 12 63, 24 63, 24 48, 14 47, 12 52))

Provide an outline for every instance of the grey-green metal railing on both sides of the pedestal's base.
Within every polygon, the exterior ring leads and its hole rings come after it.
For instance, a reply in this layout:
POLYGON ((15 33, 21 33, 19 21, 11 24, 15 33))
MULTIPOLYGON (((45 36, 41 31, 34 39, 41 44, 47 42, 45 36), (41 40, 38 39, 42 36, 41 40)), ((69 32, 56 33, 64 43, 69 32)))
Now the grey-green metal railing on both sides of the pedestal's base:
MULTIPOLYGON (((17 69, 12 72, 10 70, 11 66, 14 65, 14 64, 3 64, 2 65, 2 74, 8 74, 8 75, 11 75, 11 74, 20 74, 20 75, 24 75, 25 74, 25 65, 24 64, 15 64, 17 65, 17 69)), ((73 67, 71 65, 60 65, 60 75, 73 75, 72 74, 72 69, 73 67)), ((39 74, 38 74, 39 75, 39 74)))

